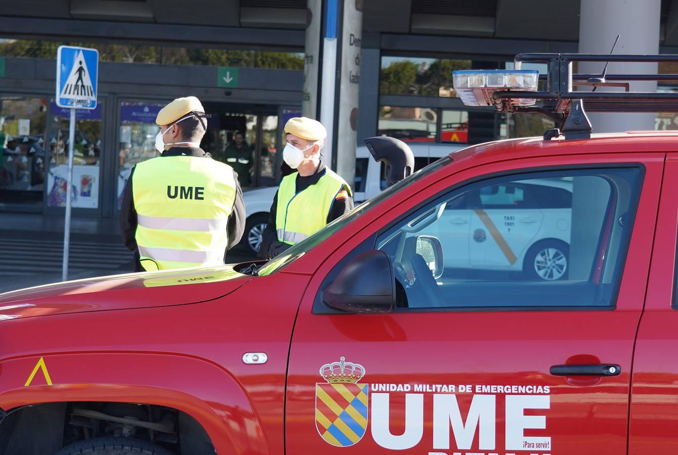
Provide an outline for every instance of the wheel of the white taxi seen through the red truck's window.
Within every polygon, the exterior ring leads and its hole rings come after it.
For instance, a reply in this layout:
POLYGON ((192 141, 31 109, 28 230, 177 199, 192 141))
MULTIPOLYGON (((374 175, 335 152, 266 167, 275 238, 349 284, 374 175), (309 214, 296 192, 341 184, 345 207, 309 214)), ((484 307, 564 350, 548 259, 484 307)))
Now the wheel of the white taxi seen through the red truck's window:
POLYGON ((570 271, 570 245, 560 240, 544 240, 525 254, 523 271, 528 279, 557 281, 570 271))

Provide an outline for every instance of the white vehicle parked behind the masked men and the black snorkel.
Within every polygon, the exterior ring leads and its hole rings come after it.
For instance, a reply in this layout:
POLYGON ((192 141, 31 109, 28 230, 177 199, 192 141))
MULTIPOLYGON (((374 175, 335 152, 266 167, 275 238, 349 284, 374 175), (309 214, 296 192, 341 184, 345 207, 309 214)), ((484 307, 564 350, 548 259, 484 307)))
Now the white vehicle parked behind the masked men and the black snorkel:
MULTIPOLYGON (((408 145, 414 154, 415 171, 464 147, 458 144, 408 145)), ((355 181, 353 182, 353 201, 356 204, 366 201, 386 189, 382 167, 381 163, 372 159, 367 147, 357 147, 355 151, 355 181)), ((277 186, 267 186, 243 193, 247 222, 241 245, 250 254, 256 254, 259 251, 262 234, 268 223, 268 214, 276 191, 278 191, 277 186)))

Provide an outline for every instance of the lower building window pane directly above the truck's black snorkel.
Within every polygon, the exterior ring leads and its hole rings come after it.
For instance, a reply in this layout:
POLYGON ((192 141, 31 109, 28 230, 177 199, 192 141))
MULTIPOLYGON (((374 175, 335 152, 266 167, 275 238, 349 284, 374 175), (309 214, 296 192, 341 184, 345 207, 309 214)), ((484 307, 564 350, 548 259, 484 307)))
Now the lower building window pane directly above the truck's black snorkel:
POLYGON ((435 142, 438 113, 423 107, 380 106, 378 130, 405 142, 435 142))

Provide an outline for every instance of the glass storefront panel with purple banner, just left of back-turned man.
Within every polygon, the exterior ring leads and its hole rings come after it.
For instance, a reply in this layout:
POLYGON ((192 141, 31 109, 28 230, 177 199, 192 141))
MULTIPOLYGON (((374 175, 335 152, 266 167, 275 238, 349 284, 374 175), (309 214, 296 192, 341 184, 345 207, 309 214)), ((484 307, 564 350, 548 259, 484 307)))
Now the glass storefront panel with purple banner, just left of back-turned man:
POLYGON ((118 152, 116 204, 122 205, 125 185, 136 163, 159 155, 155 150, 155 135, 160 131, 155 124, 164 104, 121 102, 118 152))

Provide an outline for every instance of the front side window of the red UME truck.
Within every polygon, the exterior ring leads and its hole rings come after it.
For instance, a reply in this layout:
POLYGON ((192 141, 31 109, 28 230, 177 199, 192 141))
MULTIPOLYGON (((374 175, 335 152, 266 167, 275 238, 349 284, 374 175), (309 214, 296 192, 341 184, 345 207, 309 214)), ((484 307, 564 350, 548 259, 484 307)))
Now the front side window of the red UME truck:
POLYGON ((398 306, 613 306, 640 176, 559 170, 441 195, 378 235, 398 306))

